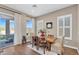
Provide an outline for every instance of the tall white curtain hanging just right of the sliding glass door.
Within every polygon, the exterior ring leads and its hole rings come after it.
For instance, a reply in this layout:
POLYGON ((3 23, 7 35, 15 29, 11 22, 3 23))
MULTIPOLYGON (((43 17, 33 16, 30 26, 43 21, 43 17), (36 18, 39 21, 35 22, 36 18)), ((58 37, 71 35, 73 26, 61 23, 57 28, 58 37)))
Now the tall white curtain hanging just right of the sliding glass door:
POLYGON ((15 34, 14 34, 14 45, 21 44, 21 15, 15 14, 15 34))

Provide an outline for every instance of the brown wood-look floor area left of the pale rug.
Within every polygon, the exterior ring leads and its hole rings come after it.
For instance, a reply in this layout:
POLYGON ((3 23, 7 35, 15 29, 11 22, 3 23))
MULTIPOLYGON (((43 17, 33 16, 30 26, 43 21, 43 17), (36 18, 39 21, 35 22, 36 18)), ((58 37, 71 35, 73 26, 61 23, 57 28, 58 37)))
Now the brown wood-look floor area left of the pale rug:
POLYGON ((39 55, 39 53, 28 48, 27 45, 17 45, 5 48, 1 55, 39 55))

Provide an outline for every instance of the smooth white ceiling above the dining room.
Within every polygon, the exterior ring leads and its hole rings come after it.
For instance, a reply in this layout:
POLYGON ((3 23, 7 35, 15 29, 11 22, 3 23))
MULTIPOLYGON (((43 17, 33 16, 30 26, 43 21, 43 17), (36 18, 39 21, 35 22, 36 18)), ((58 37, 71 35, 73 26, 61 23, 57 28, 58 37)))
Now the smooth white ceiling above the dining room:
POLYGON ((6 6, 13 8, 15 10, 26 13, 30 16, 37 17, 56 10, 71 6, 72 4, 5 4, 6 6))

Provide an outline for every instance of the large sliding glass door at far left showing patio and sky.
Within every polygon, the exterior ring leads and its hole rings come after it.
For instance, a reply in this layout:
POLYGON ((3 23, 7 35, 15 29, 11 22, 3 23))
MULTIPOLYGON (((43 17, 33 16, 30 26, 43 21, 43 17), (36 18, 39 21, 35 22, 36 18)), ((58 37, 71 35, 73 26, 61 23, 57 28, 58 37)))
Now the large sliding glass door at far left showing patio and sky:
POLYGON ((0 16, 0 48, 13 44, 14 21, 0 16))

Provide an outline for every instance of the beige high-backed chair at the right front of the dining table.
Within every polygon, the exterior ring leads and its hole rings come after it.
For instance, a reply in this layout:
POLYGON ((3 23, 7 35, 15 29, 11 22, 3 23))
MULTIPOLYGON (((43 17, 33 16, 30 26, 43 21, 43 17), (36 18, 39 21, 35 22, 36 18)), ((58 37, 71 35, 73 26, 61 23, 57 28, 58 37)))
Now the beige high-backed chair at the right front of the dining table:
POLYGON ((63 48, 63 40, 64 37, 61 39, 57 39, 54 44, 51 45, 51 51, 56 52, 58 55, 61 55, 64 53, 64 48, 63 48))

